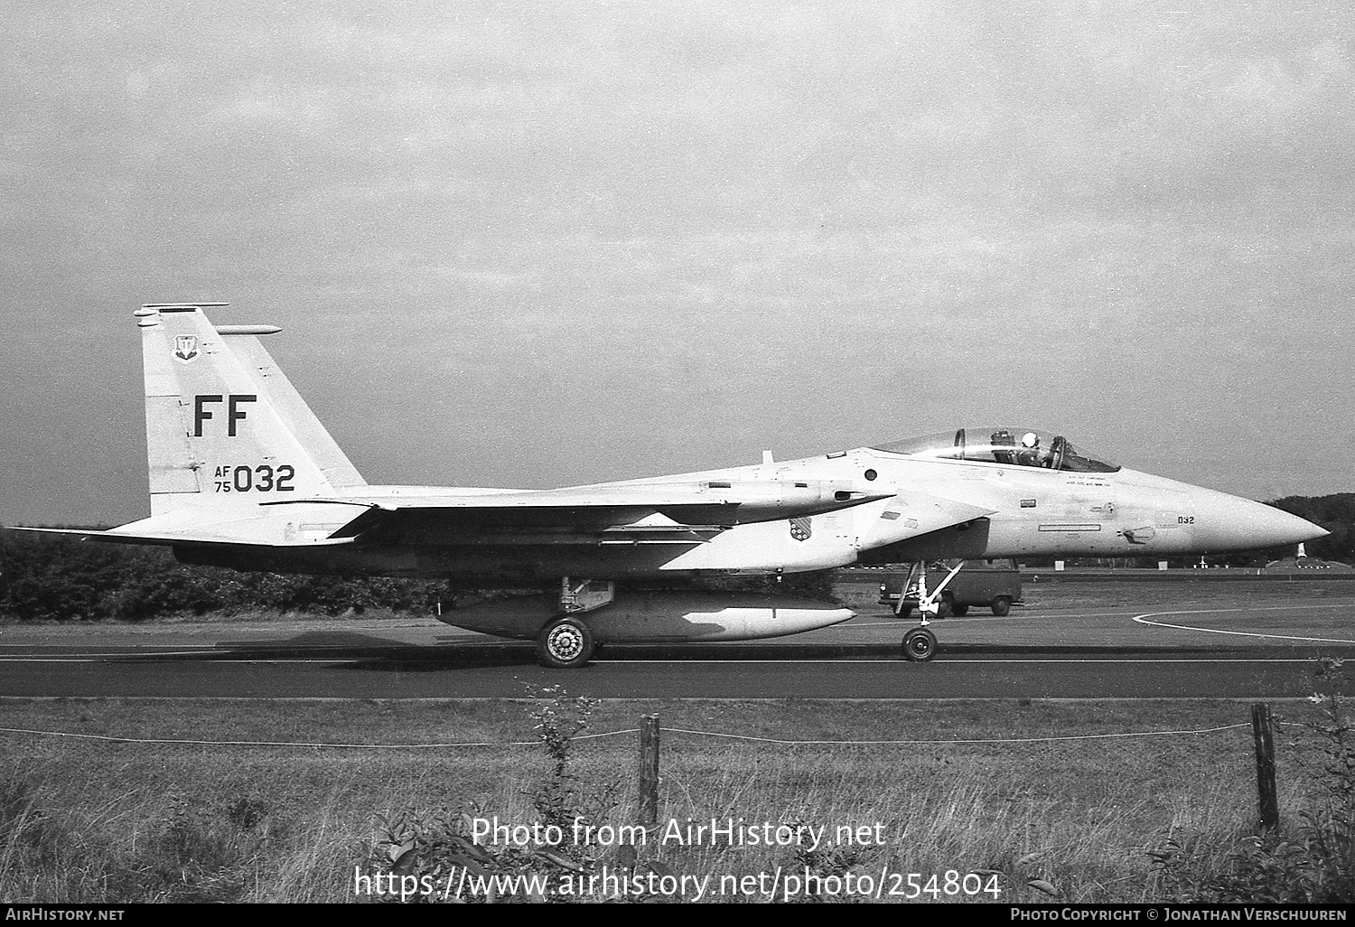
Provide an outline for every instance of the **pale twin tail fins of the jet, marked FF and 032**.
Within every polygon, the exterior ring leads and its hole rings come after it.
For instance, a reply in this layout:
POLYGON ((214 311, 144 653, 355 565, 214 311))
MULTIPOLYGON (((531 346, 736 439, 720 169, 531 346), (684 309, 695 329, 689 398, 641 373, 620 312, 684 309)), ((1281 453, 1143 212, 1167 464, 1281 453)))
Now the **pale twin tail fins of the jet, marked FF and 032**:
POLYGON ((205 306, 137 310, 150 514, 332 495, 366 481, 259 343, 274 325, 215 328, 205 306))

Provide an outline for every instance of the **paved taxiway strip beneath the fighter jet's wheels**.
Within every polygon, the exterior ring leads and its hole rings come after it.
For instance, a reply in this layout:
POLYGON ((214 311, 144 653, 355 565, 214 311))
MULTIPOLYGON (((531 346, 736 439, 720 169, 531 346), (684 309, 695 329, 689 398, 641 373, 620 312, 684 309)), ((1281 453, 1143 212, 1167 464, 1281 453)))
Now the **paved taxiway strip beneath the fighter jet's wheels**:
POLYGON ((564 683, 593 698, 1301 698, 1320 657, 1355 657, 1351 615, 1355 595, 1325 594, 1035 606, 935 622, 938 657, 919 664, 898 648, 915 622, 878 611, 771 641, 608 645, 576 671, 431 618, 7 625, 0 697, 501 698, 564 683))

